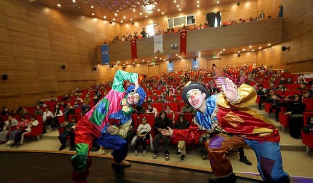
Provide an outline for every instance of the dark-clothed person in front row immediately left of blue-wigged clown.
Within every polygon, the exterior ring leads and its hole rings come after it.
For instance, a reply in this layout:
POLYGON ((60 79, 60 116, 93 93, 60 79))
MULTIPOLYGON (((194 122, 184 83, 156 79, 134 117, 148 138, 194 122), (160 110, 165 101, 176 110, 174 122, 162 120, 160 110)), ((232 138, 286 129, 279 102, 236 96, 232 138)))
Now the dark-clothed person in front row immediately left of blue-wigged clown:
POLYGON ((75 151, 74 140, 75 140, 75 127, 77 124, 76 120, 77 119, 75 116, 71 117, 70 122, 67 123, 67 125, 64 128, 64 131, 58 136, 58 138, 61 142, 61 146, 59 148, 59 151, 62 151, 63 149, 65 149, 68 136, 70 136, 69 151, 75 151))

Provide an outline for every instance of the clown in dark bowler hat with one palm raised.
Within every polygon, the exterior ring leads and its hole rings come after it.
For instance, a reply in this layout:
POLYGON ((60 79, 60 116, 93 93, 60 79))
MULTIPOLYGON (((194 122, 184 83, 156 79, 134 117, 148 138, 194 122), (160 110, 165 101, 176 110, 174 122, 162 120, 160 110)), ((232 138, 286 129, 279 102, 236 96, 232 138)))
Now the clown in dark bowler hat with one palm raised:
POLYGON ((182 91, 184 102, 197 109, 194 123, 198 129, 163 130, 177 140, 191 140, 208 133, 220 132, 205 143, 214 178, 209 183, 234 183, 237 178, 226 157, 229 150, 248 144, 255 152, 258 171, 269 183, 289 183, 283 171, 278 129, 268 120, 246 107, 256 100, 253 87, 242 84, 238 89, 226 79, 223 93, 209 97, 208 90, 198 82, 189 82, 182 91))

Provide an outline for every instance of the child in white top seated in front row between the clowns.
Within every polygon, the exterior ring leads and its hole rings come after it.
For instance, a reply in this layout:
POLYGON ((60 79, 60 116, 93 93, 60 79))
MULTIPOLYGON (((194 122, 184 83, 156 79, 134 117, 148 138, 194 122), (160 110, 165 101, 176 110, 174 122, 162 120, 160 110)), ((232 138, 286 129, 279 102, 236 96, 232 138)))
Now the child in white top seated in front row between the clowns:
POLYGON ((151 131, 151 126, 149 123, 147 123, 147 118, 146 117, 142 117, 141 118, 141 124, 139 124, 138 128, 137 128, 137 138, 136 138, 136 143, 135 143, 135 150, 134 150, 134 154, 137 156, 138 155, 138 146, 139 146, 139 142, 142 142, 142 148, 143 148, 143 152, 142 152, 142 156, 145 156, 147 154, 146 151, 146 139, 149 139, 149 134, 151 131))

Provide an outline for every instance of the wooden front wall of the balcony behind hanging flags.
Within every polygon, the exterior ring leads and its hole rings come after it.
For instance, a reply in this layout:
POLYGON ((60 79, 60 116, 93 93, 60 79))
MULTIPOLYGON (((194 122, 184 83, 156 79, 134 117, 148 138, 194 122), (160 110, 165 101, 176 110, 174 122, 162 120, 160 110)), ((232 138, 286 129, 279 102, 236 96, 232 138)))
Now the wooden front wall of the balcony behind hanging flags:
MULTIPOLYGON (((214 50, 229 47, 240 47, 252 44, 277 44, 281 42, 282 18, 227 25, 225 27, 206 28, 188 31, 187 53, 202 50, 214 50)), ((130 41, 109 45, 110 61, 130 60, 130 41)), ((137 40, 138 59, 179 53, 179 33, 163 36, 163 54, 154 54, 154 38, 137 40), (171 44, 178 48, 171 48, 171 44)), ((101 64, 101 52, 98 52, 101 64)))

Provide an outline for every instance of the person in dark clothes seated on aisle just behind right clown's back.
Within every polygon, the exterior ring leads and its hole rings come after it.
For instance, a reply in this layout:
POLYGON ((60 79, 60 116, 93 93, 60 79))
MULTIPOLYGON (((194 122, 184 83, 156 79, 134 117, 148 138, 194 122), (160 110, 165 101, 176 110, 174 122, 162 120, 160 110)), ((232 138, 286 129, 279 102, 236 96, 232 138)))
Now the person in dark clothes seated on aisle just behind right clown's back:
POLYGON ((268 89, 267 92, 267 103, 271 103, 271 107, 269 108, 269 112, 273 112, 273 109, 275 109, 275 120, 276 122, 279 122, 279 112, 281 107, 281 100, 282 97, 279 94, 275 94, 273 89, 268 89))

